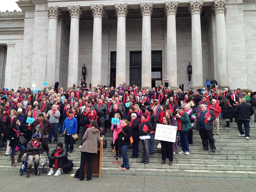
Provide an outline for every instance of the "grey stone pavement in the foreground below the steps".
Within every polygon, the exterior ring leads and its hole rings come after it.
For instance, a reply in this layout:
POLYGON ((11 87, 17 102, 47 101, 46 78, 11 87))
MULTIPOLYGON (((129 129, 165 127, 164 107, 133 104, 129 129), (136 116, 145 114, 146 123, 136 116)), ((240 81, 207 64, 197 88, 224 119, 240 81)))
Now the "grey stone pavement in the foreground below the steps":
POLYGON ((255 191, 256 179, 198 178, 198 177, 151 177, 127 175, 103 175, 101 178, 80 181, 61 174, 54 177, 41 173, 26 178, 19 173, 0 172, 1 191, 255 191))

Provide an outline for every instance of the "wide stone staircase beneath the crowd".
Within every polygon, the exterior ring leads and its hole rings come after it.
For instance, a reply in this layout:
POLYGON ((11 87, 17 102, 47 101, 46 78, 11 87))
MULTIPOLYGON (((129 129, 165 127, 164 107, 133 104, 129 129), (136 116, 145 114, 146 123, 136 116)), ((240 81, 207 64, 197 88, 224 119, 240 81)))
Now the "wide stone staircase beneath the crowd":
MULTIPOLYGON (((122 170, 115 162, 115 153, 112 153, 112 133, 107 131, 104 140, 107 140, 107 148, 103 149, 103 174, 111 175, 159 175, 159 176, 188 176, 188 177, 228 177, 228 178, 256 178, 256 123, 250 122, 250 140, 244 136, 238 136, 239 131, 235 122, 231 127, 224 127, 225 120, 220 120, 220 135, 214 136, 216 152, 203 151, 198 131, 193 130, 193 146, 189 146, 190 155, 180 155, 178 152, 173 156, 173 165, 161 165, 162 156, 157 149, 159 141, 155 141, 155 153, 149 156, 149 164, 139 163, 141 161, 141 145, 139 143, 139 157, 129 158, 130 169, 122 170)), ((80 135, 79 135, 80 136, 80 135)), ((59 134, 59 142, 64 144, 64 137, 59 134)), ((78 138, 78 141, 81 137, 78 138)), ((69 153, 73 159, 74 168, 70 173, 75 173, 80 165, 80 142, 74 145, 73 153, 69 153)), ((65 144, 64 144, 65 146, 65 144)), ((52 151, 56 144, 49 144, 52 151)), ((210 147, 209 147, 210 149, 210 147)), ((21 163, 17 163, 19 152, 15 152, 16 168, 11 166, 9 156, 5 155, 6 148, 0 147, 0 171, 19 172, 21 163)), ((128 150, 128 156, 132 149, 128 150)), ((118 161, 122 162, 122 158, 118 161)), ((50 170, 45 166, 46 173, 50 170)), ((40 167, 42 173, 42 168, 40 167)))

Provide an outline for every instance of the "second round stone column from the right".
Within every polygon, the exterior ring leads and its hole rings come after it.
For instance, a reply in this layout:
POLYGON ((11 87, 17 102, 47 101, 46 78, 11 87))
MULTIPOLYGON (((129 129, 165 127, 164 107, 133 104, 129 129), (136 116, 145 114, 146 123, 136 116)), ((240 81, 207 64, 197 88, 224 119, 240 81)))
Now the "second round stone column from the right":
POLYGON ((192 23, 192 86, 198 88, 203 85, 203 61, 200 14, 203 2, 190 2, 189 11, 192 23))

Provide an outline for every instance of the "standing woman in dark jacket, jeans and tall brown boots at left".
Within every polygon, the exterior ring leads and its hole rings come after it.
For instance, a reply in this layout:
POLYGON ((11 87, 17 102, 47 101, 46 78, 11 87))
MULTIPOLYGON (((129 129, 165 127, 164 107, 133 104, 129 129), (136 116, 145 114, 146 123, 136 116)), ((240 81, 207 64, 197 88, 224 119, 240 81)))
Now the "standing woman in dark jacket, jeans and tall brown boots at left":
MULTIPOLYGON (((7 138, 10 139, 9 147, 11 147, 11 156, 10 157, 11 157, 11 161, 12 161, 12 167, 16 167, 15 162, 14 162, 14 154, 15 154, 16 146, 19 146, 19 148, 20 148, 21 157, 24 154, 24 152, 26 151, 24 144, 19 142, 20 134, 21 134, 21 131, 20 131, 19 118, 14 118, 10 127, 7 128, 7 133, 6 133, 7 138)), ((20 154, 19 154, 19 156, 20 156, 20 154)))

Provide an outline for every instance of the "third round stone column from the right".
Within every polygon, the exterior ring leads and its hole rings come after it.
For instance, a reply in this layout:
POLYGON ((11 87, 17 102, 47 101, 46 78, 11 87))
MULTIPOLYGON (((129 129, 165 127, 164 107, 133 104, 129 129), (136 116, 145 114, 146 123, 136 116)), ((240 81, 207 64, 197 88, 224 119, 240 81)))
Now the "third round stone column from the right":
MULTIPOLYGON (((167 16, 167 70, 163 76, 168 77, 171 89, 177 89, 177 48, 176 48, 176 13, 178 2, 165 3, 167 16)), ((164 83, 163 83, 164 84, 164 83)))

